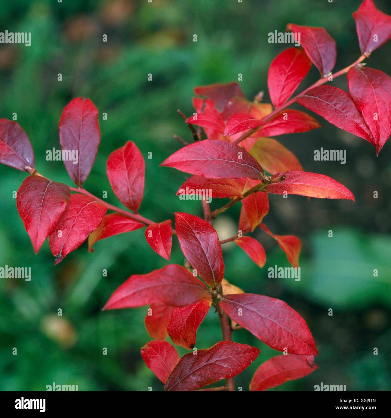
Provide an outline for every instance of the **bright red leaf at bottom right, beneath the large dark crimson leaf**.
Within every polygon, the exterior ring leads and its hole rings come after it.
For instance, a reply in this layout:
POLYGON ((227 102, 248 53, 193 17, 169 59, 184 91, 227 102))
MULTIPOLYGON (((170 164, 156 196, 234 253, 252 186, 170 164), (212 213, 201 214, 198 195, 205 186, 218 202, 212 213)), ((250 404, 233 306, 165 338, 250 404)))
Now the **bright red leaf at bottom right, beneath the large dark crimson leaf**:
POLYGON ((316 370, 306 366, 291 355, 275 356, 257 368, 250 382, 251 391, 261 391, 280 386, 288 380, 300 379, 316 370))

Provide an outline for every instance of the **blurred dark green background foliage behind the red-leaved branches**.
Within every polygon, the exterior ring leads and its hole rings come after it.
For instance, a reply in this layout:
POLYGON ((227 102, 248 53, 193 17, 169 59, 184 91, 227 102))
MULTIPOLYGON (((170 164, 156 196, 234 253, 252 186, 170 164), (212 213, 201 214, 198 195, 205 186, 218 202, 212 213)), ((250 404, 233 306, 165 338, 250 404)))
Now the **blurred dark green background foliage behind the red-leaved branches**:
MULTIPOLYGON (((181 201, 175 193, 186 175, 159 163, 179 148, 174 134, 191 140, 180 108, 191 115, 196 85, 240 83, 249 99, 265 90, 267 69, 283 44, 267 43, 269 32, 289 22, 323 26, 337 42, 336 70, 355 61, 358 41, 351 13, 360 1, 344 0, 14 0, 0 3, 1 31, 32 33, 30 47, 0 45, 0 117, 17 121, 35 150, 43 175, 71 185, 61 161, 46 161, 45 151, 59 148, 58 120, 77 96, 98 107, 101 145, 84 187, 120 205, 106 178, 108 155, 127 140, 146 159, 146 188, 140 212, 156 221, 173 212, 201 215, 199 202, 181 201), (108 41, 102 42, 103 34, 108 41), (193 35, 197 34, 197 42, 193 35), (58 81, 57 74, 62 74, 58 81), (151 73, 153 81, 147 81, 151 73), (102 113, 107 112, 107 120, 102 113)), ((391 14, 387 0, 378 8, 391 14)), ((388 43, 368 65, 391 73, 388 43)), ((313 66, 302 86, 318 79, 313 66)), ((333 85, 347 89, 346 78, 333 85)), ((299 87, 300 88, 300 87, 299 87)), ((298 105, 295 108, 299 109, 298 105)), ((270 196, 267 226, 277 234, 296 234, 303 241, 301 280, 267 278, 267 268, 288 262, 275 241, 255 232, 267 252, 260 270, 235 245, 223 248, 226 278, 247 292, 281 298, 308 322, 320 353, 319 370, 276 390, 313 390, 324 384, 346 384, 347 390, 390 390, 391 227, 390 147, 376 157, 361 138, 338 130, 315 116, 323 127, 278 139, 299 158, 305 171, 327 174, 356 196, 351 201, 270 196), (345 149, 347 163, 313 160, 315 149, 345 149), (378 199, 373 199, 378 191, 378 199), (328 231, 333 230, 333 238, 328 231), (378 269, 378 277, 373 277, 378 269), (328 310, 333 309, 333 316, 328 310), (374 347, 378 355, 373 355, 374 347)), ((79 390, 163 390, 141 360, 140 347, 150 340, 144 328, 147 307, 101 312, 111 293, 134 273, 166 265, 147 245, 144 229, 86 243, 58 266, 46 241, 38 255, 18 217, 13 191, 25 174, 0 166, 0 266, 31 267, 32 280, 1 279, 0 389, 45 390, 75 384, 79 390), (108 277, 102 277, 102 270, 108 277), (57 316, 61 308, 63 316, 57 316), (18 350, 12 354, 13 347, 18 350), (102 354, 103 347, 108 350, 102 354)), ((212 209, 224 201, 214 199, 212 209)), ((215 222, 221 239, 237 231, 240 205, 215 222)), ((183 263, 174 239, 173 263, 183 263)), ((211 310, 199 328, 197 347, 221 339, 211 310)), ((261 349, 254 364, 236 378, 248 390, 256 368, 279 354, 245 330, 234 340, 261 349)), ((186 350, 179 347, 179 354, 186 350)))

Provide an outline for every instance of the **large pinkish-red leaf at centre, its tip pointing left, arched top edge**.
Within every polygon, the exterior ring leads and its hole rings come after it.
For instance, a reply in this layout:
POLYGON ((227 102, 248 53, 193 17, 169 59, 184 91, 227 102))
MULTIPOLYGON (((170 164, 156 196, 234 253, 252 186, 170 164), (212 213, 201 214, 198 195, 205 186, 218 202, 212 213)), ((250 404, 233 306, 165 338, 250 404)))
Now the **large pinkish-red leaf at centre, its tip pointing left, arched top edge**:
POLYGON ((181 148, 161 166, 207 178, 249 177, 260 180, 262 167, 240 146, 219 140, 205 139, 181 148))

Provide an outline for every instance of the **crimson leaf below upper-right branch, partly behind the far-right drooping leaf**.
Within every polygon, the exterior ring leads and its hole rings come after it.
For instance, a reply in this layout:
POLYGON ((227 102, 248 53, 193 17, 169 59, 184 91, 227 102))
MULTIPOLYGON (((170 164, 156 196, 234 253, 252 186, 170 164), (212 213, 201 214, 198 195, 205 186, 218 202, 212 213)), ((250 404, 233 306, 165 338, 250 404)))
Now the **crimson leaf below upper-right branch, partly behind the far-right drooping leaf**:
POLYGON ((352 98, 338 87, 315 87, 298 97, 298 102, 333 125, 373 143, 368 126, 352 98))

